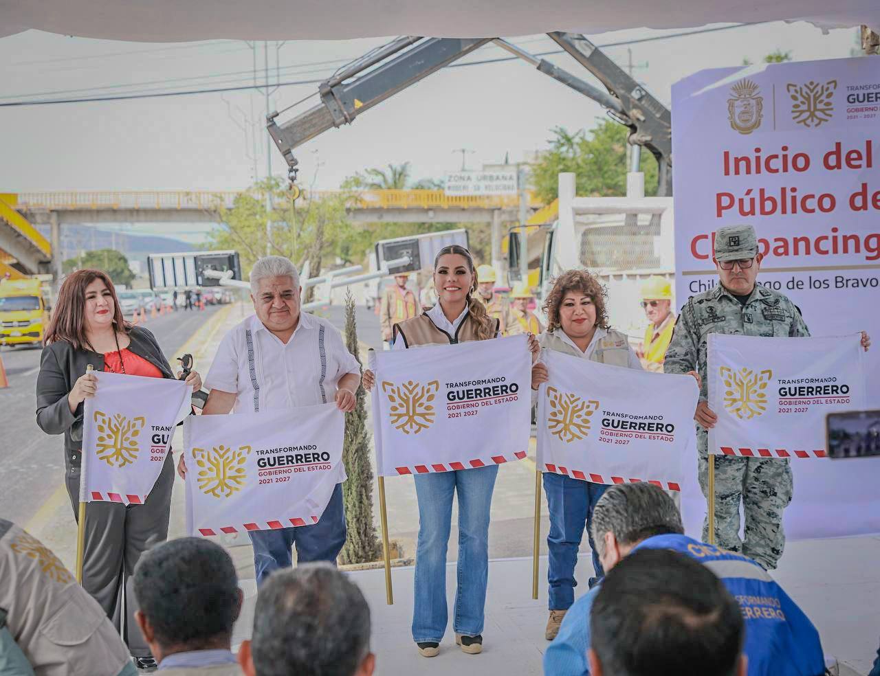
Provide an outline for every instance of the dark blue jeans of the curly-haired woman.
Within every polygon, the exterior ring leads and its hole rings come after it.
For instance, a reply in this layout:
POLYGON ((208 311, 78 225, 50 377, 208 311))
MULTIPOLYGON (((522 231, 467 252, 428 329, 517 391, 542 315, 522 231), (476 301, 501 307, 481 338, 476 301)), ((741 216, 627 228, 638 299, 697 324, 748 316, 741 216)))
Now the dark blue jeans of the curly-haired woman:
POLYGON ((583 527, 587 528, 590 549, 593 550, 593 569, 596 577, 590 578, 590 589, 605 576, 602 562, 596 553, 590 527, 593 521, 593 507, 605 492, 605 483, 592 483, 572 479, 569 476, 544 473, 544 491, 550 509, 550 533, 547 534, 547 549, 550 565, 547 594, 550 610, 568 610, 575 602, 575 566, 577 550, 583 539, 583 527))

